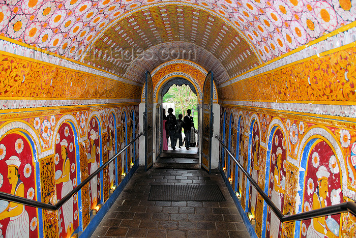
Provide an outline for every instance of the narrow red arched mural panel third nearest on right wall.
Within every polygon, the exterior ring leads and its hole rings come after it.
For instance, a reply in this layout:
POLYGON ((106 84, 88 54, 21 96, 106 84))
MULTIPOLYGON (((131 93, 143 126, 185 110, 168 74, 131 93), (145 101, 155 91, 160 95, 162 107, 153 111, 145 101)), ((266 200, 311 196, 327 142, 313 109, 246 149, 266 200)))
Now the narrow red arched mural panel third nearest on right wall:
MULTIPOLYGON (((251 145, 251 164, 250 164, 250 175, 253 180, 258 182, 258 174, 259 174, 259 128, 257 122, 254 122, 252 129, 252 145, 251 145)), ((257 190, 253 188, 250 183, 249 189, 249 211, 256 217, 256 204, 257 204, 257 190)))

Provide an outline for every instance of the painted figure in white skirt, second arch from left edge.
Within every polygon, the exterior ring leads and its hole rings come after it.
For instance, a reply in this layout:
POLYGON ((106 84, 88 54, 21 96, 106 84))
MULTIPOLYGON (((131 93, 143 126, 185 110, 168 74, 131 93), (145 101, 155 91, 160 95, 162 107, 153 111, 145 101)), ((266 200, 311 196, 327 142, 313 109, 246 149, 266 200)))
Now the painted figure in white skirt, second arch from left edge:
MULTIPOLYGON (((63 183, 62 185, 62 198, 73 190, 73 183, 70 176, 70 161, 67 153, 68 142, 66 139, 61 141, 61 155, 63 163, 62 176, 55 181, 56 184, 63 183)), ((71 197, 62 206, 64 227, 66 229, 67 236, 70 236, 74 231, 73 226, 73 197, 71 197)))

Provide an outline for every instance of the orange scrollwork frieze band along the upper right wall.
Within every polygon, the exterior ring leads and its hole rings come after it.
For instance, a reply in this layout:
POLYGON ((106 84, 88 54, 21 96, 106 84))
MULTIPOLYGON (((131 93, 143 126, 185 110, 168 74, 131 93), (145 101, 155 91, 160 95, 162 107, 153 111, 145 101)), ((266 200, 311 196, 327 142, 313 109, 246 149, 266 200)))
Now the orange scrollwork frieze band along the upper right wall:
MULTIPOLYGON (((301 63, 257 75, 218 88, 219 100, 233 101, 355 101, 356 47, 334 50, 301 63), (336 52, 335 52, 336 51, 336 52), (253 87, 253 85, 258 85, 253 87), (273 86, 271 86, 273 85, 273 86), (278 86, 277 86, 278 85, 278 86), (323 85, 329 85, 324 87, 323 85), (252 87, 251 87, 252 86, 252 87), (253 90, 251 90, 253 88, 253 90)), ((278 109, 278 108, 275 108, 278 109)), ((303 107, 300 109, 305 110, 303 107)), ((318 113, 352 116, 338 107, 319 108, 318 113)))

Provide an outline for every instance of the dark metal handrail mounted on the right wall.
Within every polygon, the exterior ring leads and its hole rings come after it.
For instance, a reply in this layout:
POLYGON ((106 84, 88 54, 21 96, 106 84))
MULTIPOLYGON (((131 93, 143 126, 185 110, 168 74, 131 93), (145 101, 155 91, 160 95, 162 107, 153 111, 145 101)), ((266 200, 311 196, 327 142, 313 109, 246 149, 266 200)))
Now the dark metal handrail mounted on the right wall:
POLYGON ((240 164, 240 162, 238 160, 236 160, 236 158, 231 154, 231 152, 228 150, 226 145, 221 141, 219 136, 215 135, 215 138, 218 139, 218 141, 223 146, 225 151, 229 154, 229 156, 236 163, 236 165, 238 165, 238 167, 241 169, 241 171, 246 175, 247 179, 250 181, 250 183, 253 185, 253 187, 257 190, 257 192, 263 197, 263 199, 267 203, 267 205, 269 205, 271 207, 272 211, 276 214, 276 216, 282 223, 308 220, 308 219, 317 218, 317 217, 325 217, 325 216, 335 215, 335 214, 344 213, 344 212, 350 212, 354 216, 356 216, 356 203, 352 202, 352 201, 322 207, 320 209, 315 209, 315 210, 312 210, 309 212, 303 212, 303 213, 289 215, 289 216, 283 215, 281 213, 281 211, 279 211, 277 206, 273 203, 273 201, 268 197, 268 195, 265 194, 265 192, 258 186, 256 181, 254 179, 252 179, 252 176, 245 170, 245 168, 240 164))

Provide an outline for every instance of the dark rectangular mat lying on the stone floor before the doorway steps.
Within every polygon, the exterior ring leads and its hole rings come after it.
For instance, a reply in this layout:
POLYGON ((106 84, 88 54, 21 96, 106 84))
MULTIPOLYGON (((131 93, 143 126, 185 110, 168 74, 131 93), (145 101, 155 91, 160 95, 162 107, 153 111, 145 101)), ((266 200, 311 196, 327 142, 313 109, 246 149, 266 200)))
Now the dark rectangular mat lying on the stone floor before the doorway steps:
POLYGON ((225 201, 216 185, 152 185, 149 201, 225 201))

